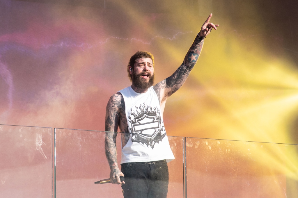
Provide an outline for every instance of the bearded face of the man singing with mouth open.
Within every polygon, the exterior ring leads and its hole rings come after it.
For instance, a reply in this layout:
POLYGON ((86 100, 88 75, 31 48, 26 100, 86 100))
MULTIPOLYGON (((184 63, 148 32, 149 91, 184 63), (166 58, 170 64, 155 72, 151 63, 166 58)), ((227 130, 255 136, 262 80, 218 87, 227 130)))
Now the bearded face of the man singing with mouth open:
POLYGON ((142 89, 151 87, 154 83, 154 68, 151 58, 136 59, 132 74, 134 86, 142 89))

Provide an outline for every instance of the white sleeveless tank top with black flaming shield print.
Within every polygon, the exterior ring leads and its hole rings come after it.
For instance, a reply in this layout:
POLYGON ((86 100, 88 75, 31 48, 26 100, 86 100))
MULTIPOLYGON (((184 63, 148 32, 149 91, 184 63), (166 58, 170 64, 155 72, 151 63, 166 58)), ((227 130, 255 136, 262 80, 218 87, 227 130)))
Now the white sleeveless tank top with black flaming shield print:
POLYGON ((146 93, 136 93, 131 86, 119 92, 125 102, 130 133, 127 144, 122 146, 121 163, 158 160, 169 162, 175 159, 153 86, 146 93))

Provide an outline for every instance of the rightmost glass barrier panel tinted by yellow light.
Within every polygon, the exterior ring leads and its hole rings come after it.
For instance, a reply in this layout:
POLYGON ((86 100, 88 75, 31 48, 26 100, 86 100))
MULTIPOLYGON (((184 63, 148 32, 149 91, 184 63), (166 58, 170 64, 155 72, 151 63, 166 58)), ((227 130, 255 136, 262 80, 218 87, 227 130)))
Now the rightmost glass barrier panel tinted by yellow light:
POLYGON ((186 138, 187 197, 297 198, 298 146, 186 138))

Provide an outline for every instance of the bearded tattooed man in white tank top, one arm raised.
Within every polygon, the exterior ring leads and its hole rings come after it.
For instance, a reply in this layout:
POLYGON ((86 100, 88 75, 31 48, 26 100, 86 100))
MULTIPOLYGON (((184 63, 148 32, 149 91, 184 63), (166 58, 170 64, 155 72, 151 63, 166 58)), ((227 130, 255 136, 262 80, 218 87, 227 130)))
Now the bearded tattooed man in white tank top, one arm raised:
POLYGON ((201 53, 204 38, 218 25, 209 15, 174 74, 153 85, 154 58, 136 52, 128 64, 132 85, 111 96, 105 116, 105 154, 113 184, 122 184, 125 198, 167 197, 167 161, 174 156, 164 130, 163 111, 167 98, 185 82, 201 53), (116 137, 121 131, 121 171, 117 164, 116 137), (119 176, 124 176, 120 181, 119 176))

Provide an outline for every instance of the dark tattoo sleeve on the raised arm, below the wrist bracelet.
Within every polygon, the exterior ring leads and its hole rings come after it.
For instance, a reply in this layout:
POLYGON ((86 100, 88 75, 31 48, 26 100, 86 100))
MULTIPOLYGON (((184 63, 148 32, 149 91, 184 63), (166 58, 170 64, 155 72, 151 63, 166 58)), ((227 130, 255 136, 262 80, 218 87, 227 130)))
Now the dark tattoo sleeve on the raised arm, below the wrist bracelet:
POLYGON ((198 61, 198 57, 203 48, 204 40, 195 37, 193 44, 185 55, 182 65, 174 72, 174 74, 166 79, 166 86, 170 88, 169 96, 175 93, 185 82, 190 71, 198 61))

